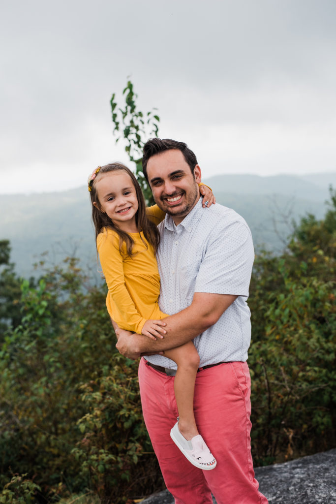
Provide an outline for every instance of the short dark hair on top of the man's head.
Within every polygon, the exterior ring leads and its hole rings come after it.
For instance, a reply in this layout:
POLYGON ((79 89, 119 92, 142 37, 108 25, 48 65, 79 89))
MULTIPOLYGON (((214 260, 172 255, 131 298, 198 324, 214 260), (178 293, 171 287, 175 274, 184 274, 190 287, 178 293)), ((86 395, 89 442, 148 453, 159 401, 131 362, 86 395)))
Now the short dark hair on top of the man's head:
POLYGON ((186 163, 189 165, 191 173, 195 169, 197 163, 196 156, 189 149, 187 144, 184 142, 177 142, 176 140, 171 140, 170 138, 166 138, 161 140, 161 138, 151 138, 144 146, 144 155, 143 155, 143 172, 148 182, 147 176, 147 163, 148 160, 155 156, 155 154, 159 154, 160 152, 169 151, 171 149, 176 149, 181 151, 186 163))

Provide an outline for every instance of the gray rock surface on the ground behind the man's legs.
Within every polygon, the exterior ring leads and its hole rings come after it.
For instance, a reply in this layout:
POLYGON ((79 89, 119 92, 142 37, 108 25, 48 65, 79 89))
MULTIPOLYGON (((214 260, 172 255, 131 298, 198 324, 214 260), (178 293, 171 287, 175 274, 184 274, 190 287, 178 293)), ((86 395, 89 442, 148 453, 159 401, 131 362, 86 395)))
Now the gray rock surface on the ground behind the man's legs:
MULTIPOLYGON (((255 476, 270 504, 336 504, 336 449, 257 467, 255 476)), ((142 504, 174 504, 174 498, 164 490, 142 504)))

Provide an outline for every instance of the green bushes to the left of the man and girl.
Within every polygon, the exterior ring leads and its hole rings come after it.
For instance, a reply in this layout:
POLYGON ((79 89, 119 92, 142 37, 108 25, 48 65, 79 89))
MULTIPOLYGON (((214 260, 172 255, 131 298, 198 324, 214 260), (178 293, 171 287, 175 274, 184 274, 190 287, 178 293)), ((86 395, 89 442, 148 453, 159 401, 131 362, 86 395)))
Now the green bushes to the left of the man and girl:
MULTIPOLYGON (((0 482, 28 473, 41 502, 86 488, 122 501, 138 491, 138 458, 153 459, 136 365, 115 350, 105 289, 85 292, 86 280, 70 259, 36 287, 24 281, 21 324, 0 352, 0 482)), ((156 484, 155 461, 149 469, 140 491, 156 484)))

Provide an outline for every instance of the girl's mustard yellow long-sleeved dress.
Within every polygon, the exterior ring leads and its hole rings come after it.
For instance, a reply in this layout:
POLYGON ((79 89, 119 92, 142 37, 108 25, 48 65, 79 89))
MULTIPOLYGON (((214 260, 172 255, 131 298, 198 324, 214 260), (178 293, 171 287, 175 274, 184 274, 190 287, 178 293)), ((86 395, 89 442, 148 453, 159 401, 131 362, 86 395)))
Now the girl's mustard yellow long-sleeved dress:
MULTIPOLYGON (((165 213, 157 205, 147 208, 148 217, 157 225, 165 213)), ((126 245, 119 251, 119 236, 104 228, 97 236, 100 264, 108 287, 106 307, 118 326, 141 334, 149 319, 167 317, 158 304, 160 275, 154 248, 143 233, 129 233, 135 242, 133 257, 126 254, 126 245)))

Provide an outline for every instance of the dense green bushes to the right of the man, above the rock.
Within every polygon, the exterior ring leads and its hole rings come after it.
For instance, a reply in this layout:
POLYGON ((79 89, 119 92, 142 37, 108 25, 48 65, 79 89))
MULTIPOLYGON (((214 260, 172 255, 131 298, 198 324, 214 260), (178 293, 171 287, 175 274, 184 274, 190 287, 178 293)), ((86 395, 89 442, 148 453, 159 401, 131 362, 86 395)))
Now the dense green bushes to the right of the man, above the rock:
POLYGON ((259 463, 336 444, 336 197, 323 221, 295 226, 282 257, 256 259, 252 442, 259 463))

